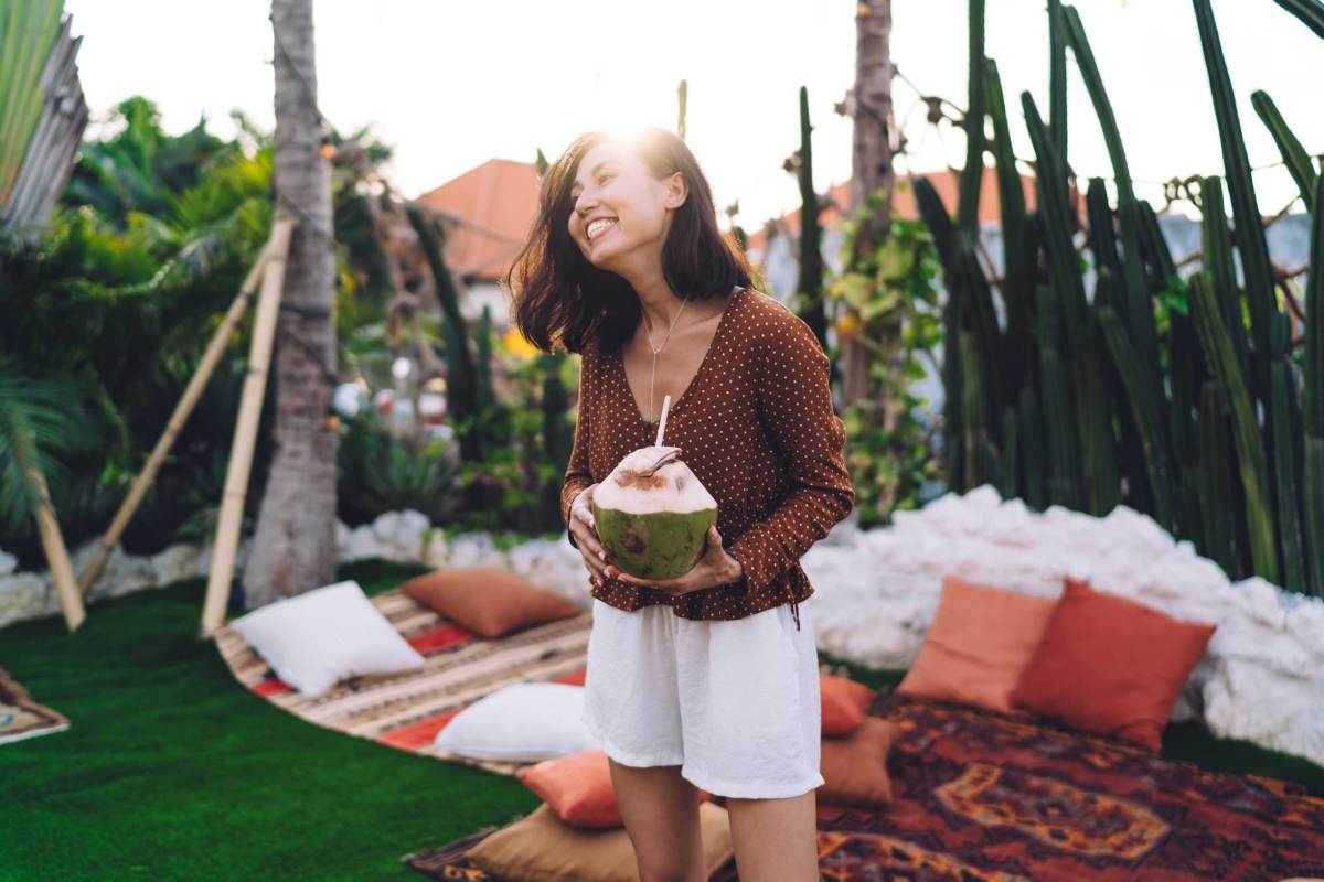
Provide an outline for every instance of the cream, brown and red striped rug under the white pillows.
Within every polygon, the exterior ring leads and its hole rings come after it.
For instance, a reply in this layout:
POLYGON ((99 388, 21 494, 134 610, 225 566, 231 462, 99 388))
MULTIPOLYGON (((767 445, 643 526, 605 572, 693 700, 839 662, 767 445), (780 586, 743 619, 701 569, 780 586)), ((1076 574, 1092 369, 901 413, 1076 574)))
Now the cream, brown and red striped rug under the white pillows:
POLYGON ((216 645, 241 684, 311 723, 500 775, 514 775, 524 763, 448 754, 436 750, 433 739, 451 717, 508 684, 584 682, 591 612, 487 640, 446 621, 399 588, 373 596, 372 606, 424 657, 422 668, 352 677, 308 698, 277 677, 229 625, 217 629, 216 645))

